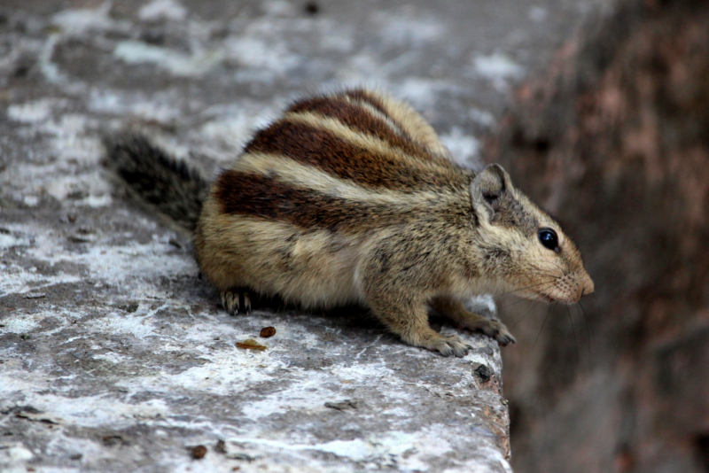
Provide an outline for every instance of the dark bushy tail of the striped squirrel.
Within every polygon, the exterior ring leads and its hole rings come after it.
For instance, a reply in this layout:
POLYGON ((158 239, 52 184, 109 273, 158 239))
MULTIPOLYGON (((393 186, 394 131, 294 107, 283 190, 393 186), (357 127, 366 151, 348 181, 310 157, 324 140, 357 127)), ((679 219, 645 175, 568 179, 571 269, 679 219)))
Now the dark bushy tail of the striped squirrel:
POLYGON ((107 167, 144 204, 193 232, 208 190, 206 180, 140 135, 104 139, 107 167))

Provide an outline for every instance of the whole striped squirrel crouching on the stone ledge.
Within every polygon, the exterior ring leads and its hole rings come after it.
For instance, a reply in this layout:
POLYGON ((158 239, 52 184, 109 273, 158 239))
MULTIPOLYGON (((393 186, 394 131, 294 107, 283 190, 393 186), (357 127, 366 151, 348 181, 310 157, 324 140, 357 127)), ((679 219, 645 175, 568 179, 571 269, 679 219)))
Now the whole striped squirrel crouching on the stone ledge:
POLYGON ((354 303, 404 342, 462 357, 471 346, 432 330, 429 309, 508 345, 504 324, 464 300, 594 291, 572 240, 503 167, 457 165, 421 115, 375 90, 296 101, 211 186, 143 136, 105 144, 129 188, 192 232, 230 314, 250 312, 252 294, 354 303))

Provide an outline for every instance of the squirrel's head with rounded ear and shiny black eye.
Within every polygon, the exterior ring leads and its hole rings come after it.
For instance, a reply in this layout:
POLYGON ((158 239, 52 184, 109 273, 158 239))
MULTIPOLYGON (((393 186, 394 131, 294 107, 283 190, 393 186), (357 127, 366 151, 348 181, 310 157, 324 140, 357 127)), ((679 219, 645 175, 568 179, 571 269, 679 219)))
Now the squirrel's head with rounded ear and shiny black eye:
POLYGON ((594 291, 579 251, 559 224, 491 164, 471 182, 480 261, 495 289, 525 299, 573 304, 594 291))

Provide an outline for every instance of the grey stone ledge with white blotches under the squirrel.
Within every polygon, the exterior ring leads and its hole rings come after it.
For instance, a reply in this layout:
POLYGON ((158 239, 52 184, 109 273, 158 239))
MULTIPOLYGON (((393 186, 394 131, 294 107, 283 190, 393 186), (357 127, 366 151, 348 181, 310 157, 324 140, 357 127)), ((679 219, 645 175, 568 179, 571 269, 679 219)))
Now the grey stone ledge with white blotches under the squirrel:
POLYGON ((214 175, 292 98, 364 84, 478 166, 510 87, 595 8, 3 2, 0 469, 510 471, 495 343, 443 358, 356 308, 230 317, 189 239, 113 186, 100 138, 140 129, 214 175))

